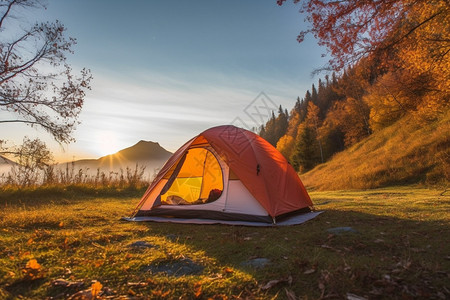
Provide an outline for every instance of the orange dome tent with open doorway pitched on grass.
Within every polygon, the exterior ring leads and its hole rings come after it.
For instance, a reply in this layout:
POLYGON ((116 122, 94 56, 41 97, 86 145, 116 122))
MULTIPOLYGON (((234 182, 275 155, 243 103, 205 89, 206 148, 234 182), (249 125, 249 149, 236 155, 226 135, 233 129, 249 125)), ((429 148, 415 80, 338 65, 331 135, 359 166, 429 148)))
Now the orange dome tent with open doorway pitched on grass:
POLYGON ((278 150, 253 132, 224 125, 178 149, 125 219, 289 225, 315 217, 312 205, 297 173, 278 150))

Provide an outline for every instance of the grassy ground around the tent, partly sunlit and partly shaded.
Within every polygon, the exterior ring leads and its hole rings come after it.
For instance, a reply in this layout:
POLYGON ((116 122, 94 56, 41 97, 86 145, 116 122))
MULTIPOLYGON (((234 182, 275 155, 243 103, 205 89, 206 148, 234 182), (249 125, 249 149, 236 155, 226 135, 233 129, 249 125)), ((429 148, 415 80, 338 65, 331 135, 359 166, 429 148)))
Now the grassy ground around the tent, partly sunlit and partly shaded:
POLYGON ((449 191, 310 194, 323 214, 274 228, 120 221, 139 201, 135 195, 3 196, 0 299, 64 299, 81 291, 89 299, 95 281, 105 299, 450 297, 449 191), (148 247, 130 246, 138 241, 148 247), (254 258, 269 264, 245 264, 254 258), (183 261, 202 269, 178 277, 149 271, 183 261))

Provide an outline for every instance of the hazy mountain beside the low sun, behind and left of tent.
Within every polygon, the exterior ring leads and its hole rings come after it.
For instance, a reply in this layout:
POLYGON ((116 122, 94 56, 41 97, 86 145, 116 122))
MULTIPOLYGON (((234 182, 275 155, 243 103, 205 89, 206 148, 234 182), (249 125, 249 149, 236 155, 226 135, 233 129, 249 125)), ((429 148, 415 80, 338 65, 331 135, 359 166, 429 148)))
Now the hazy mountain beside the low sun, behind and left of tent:
POLYGON ((114 154, 98 159, 83 159, 59 165, 59 168, 80 169, 86 173, 96 173, 97 170, 108 172, 126 172, 127 168, 135 170, 136 166, 145 167, 146 175, 152 176, 172 155, 157 142, 139 141, 137 144, 120 150, 114 154))

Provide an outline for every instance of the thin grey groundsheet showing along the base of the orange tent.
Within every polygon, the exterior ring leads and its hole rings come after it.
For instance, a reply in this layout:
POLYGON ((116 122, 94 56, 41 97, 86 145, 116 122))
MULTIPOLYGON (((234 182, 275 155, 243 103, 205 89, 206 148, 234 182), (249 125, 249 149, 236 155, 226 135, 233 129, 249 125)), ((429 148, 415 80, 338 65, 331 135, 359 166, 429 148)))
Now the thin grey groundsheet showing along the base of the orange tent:
POLYGON ((211 220, 211 219, 182 219, 182 218, 165 218, 165 217, 135 217, 126 218, 122 220, 131 222, 159 222, 159 223, 181 223, 181 224, 226 224, 226 225, 238 225, 238 226, 258 226, 258 227, 272 227, 272 226, 289 226, 298 225, 306 221, 314 219, 320 215, 323 211, 308 212, 300 215, 295 215, 277 222, 276 224, 261 223, 261 222, 247 222, 247 221, 224 221, 224 220, 211 220))

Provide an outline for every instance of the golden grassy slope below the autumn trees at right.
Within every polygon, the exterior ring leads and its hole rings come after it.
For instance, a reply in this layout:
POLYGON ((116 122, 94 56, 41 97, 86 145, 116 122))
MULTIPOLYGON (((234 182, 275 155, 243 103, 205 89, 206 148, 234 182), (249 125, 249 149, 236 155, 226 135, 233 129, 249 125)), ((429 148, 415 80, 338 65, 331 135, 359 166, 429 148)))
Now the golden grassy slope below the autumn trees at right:
POLYGON ((405 117, 302 174, 302 181, 318 190, 448 183, 449 115, 431 124, 405 117))

